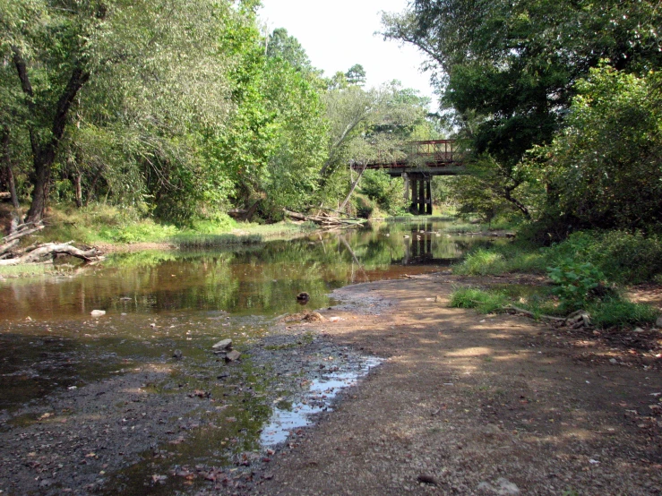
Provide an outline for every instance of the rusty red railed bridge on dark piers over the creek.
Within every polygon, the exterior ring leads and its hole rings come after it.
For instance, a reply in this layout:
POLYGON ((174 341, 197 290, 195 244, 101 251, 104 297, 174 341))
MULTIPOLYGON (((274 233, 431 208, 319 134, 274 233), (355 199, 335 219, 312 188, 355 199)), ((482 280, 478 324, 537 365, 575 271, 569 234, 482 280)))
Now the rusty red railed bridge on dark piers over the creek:
POLYGON ((409 141, 398 154, 377 157, 367 164, 354 164, 354 169, 383 169, 391 177, 405 180, 405 201, 418 215, 432 215, 431 179, 433 175, 458 175, 463 172, 455 140, 409 141))

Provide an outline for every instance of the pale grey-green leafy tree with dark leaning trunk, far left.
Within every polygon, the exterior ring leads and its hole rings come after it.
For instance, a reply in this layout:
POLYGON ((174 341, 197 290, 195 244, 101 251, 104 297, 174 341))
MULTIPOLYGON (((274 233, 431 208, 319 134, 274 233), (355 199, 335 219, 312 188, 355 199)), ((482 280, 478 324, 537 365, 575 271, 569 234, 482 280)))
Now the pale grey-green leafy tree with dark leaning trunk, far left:
MULTIPOLYGON (((43 215, 63 143, 73 136, 74 108, 76 129, 89 138, 79 148, 88 142, 100 152, 106 141, 113 150, 104 155, 149 166, 172 190, 195 175, 189 124, 200 131, 228 115, 223 73, 229 61, 220 56, 217 40, 223 21, 240 8, 211 1, 7 0, 0 9, 0 49, 10 63, 0 81, 10 85, 4 95, 13 97, 10 132, 25 133, 30 141, 30 220, 43 215), (177 167, 187 160, 190 167, 177 167)), ((120 182, 117 194, 142 190, 124 181, 132 174, 123 167, 108 171, 120 182)))

